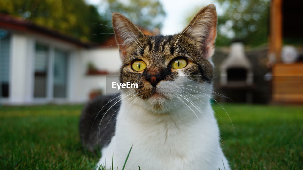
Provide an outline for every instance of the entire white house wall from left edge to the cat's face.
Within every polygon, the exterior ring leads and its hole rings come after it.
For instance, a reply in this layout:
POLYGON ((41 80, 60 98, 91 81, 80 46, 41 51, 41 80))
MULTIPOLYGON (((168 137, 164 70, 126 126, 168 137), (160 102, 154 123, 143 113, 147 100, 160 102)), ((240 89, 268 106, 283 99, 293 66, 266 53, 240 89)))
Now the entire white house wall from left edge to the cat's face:
MULTIPOLYGON (((118 75, 122 64, 118 48, 83 48, 41 34, 8 30, 11 34, 9 56, 9 96, 1 103, 9 105, 43 103, 84 103, 89 93, 101 89, 106 93, 106 76, 118 75), (48 80, 48 96, 34 98, 35 44, 48 46, 50 55, 58 48, 68 52, 67 97, 52 97, 52 81, 48 80), (88 75, 87 66, 92 62, 98 70, 106 70, 106 75, 88 75)), ((51 69, 52 71, 52 69, 51 69)))

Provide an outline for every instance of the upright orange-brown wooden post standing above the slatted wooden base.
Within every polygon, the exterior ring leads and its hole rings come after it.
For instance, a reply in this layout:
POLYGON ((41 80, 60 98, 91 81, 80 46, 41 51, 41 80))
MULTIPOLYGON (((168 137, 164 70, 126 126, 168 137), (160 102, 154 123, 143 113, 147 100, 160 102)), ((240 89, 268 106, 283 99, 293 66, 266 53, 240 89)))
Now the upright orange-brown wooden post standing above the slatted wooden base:
MULTIPOLYGON (((272 0, 270 7, 269 55, 275 57, 275 62, 281 61, 282 48, 282 0, 272 0), (273 55, 273 56, 272 56, 273 55)), ((270 64, 274 64, 269 58, 270 64)))

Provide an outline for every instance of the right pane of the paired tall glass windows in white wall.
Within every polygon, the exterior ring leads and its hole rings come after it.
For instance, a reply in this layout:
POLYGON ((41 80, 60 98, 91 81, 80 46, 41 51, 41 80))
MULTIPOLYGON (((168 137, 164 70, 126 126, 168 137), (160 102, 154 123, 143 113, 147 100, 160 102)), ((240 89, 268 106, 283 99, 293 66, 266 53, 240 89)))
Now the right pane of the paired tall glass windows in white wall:
POLYGON ((68 54, 55 50, 54 97, 66 97, 68 54))

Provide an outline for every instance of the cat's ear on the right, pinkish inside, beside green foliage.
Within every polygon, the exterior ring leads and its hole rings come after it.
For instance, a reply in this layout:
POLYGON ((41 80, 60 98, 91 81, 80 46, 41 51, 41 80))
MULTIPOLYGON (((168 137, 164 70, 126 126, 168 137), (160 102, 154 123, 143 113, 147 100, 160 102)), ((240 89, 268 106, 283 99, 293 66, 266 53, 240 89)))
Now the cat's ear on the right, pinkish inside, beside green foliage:
POLYGON ((183 34, 195 40, 201 55, 210 60, 215 51, 217 12, 213 4, 203 7, 185 27, 183 34))

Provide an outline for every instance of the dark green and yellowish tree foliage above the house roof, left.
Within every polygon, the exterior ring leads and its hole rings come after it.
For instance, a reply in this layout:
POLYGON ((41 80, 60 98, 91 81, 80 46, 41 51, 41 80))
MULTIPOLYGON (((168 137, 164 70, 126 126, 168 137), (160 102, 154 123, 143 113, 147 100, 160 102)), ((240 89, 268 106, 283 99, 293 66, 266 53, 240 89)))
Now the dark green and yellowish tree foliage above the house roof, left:
POLYGON ((0 12, 27 18, 34 23, 79 38, 82 41, 102 42, 92 34, 111 31, 93 23, 109 24, 98 14, 96 7, 83 0, 2 0, 0 12))

